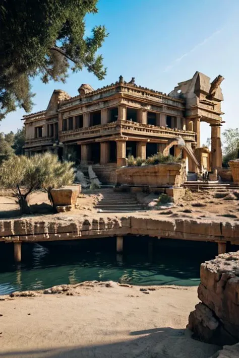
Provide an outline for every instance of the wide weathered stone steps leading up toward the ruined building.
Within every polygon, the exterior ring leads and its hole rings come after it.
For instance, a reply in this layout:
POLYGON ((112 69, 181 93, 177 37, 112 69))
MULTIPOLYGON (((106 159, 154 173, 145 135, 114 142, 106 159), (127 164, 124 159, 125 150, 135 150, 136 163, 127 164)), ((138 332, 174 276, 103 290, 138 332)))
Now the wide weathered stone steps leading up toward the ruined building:
POLYGON ((95 206, 102 212, 132 212, 144 211, 143 206, 137 201, 136 195, 127 192, 116 192, 112 188, 101 188, 94 193, 103 197, 95 206))

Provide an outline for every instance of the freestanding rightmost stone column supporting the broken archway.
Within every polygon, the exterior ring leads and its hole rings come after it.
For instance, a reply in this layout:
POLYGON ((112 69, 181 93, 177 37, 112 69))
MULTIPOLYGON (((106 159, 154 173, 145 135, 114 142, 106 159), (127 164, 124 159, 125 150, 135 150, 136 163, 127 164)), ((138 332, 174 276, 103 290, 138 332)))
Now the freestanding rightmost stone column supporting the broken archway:
POLYGON ((210 124, 211 126, 211 167, 212 170, 221 168, 222 153, 221 153, 221 124, 210 124))

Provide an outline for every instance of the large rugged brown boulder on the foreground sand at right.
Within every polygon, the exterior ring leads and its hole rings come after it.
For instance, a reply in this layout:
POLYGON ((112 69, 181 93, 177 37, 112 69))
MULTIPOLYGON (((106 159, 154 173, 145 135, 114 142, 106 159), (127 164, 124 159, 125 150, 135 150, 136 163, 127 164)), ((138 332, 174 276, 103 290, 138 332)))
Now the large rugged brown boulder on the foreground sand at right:
POLYGON ((218 345, 239 342, 239 251, 201 264, 198 298, 188 328, 194 336, 218 345))

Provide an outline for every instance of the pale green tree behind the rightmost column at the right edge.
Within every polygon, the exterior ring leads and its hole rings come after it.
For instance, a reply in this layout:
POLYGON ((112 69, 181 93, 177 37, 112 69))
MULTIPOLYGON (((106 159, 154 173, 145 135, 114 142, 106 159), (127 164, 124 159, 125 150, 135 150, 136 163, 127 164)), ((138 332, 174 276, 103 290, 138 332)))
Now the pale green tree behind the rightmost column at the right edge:
POLYGON ((228 128, 222 133, 224 140, 223 146, 223 166, 228 166, 229 160, 239 158, 239 129, 228 128))

